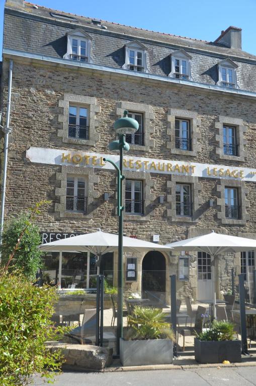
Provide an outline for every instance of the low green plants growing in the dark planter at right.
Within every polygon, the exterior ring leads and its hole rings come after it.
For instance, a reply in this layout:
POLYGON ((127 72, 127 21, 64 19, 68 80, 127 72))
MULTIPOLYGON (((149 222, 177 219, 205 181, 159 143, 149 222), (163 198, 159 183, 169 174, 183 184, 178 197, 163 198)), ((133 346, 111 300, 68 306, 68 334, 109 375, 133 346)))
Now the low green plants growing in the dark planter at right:
POLYGON ((217 321, 212 323, 211 328, 206 331, 197 334, 197 338, 202 341, 221 341, 221 340, 233 340, 235 334, 234 325, 230 322, 217 321))

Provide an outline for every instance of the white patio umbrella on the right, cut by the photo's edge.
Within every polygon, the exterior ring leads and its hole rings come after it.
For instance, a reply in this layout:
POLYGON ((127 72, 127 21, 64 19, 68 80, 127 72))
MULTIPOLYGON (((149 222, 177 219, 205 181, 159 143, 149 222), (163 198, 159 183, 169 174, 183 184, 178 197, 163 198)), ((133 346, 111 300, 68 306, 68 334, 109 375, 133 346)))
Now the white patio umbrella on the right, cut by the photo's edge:
MULTIPOLYGON (((166 244, 166 247, 174 248, 177 251, 188 252, 206 252, 212 257, 213 264, 219 254, 226 252, 243 252, 256 249, 256 240, 247 239, 245 237, 237 237, 230 235, 223 235, 212 231, 203 236, 193 237, 190 239, 177 241, 174 243, 166 244)), ((213 270, 213 312, 216 317, 216 295, 215 295, 215 283, 214 283, 214 270, 213 270)))

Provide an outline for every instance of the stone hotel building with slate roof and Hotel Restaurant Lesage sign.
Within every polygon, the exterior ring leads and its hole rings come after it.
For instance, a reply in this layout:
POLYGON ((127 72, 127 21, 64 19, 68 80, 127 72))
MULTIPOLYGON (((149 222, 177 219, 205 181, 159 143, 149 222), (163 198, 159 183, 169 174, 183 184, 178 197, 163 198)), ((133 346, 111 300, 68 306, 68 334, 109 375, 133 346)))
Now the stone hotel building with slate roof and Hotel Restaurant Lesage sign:
MULTIPOLYGON (((125 235, 159 235, 160 244, 212 229, 255 238, 256 57, 242 51, 239 28, 206 42, 23 0, 7 1, 4 23, 4 122, 13 60, 6 219, 47 199, 39 219, 45 241, 97 228, 116 233, 116 174, 103 157, 115 159, 113 123, 128 110, 141 125, 127 138, 125 235)), ((210 296, 207 256, 130 258, 129 291, 168 294, 175 273, 180 297, 210 296)), ((254 254, 246 259, 254 265, 254 254)), ((220 257, 217 296, 240 264, 240 254, 220 257)), ((109 267, 116 284, 116 254, 109 267)))

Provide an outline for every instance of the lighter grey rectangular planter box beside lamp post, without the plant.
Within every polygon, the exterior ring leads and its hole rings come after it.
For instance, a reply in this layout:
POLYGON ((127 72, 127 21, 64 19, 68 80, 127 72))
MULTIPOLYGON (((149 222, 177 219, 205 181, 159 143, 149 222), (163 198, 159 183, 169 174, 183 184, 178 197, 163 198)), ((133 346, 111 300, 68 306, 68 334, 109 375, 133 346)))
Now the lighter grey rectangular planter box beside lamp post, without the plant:
POLYGON ((173 363, 173 341, 170 339, 120 339, 120 359, 123 366, 173 363))

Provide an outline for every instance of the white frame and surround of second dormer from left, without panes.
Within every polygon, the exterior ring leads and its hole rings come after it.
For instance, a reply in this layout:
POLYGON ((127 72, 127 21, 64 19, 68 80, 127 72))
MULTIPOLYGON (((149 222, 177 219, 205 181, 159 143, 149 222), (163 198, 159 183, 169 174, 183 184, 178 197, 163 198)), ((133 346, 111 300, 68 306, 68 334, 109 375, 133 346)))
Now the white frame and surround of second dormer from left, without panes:
POLYGON ((122 68, 130 71, 137 71, 137 72, 146 72, 148 73, 149 70, 147 68, 147 47, 144 46, 144 44, 140 43, 138 40, 134 40, 133 42, 130 42, 126 44, 125 46, 125 63, 122 66, 122 68), (130 51, 134 51, 134 64, 130 63, 130 51), (137 53, 141 52, 141 66, 137 65, 137 53), (130 66, 133 66, 134 69, 131 69, 130 66), (138 71, 138 68, 141 68, 141 71, 138 71))

